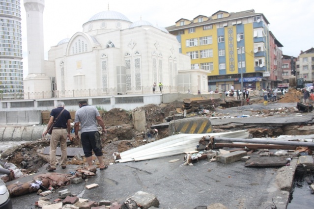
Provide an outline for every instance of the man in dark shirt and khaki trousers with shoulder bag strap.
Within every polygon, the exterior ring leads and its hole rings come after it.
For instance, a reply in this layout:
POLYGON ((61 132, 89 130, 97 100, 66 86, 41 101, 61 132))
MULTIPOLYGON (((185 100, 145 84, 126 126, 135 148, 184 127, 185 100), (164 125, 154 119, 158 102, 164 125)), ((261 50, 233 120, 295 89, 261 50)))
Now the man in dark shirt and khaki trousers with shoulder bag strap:
POLYGON ((64 169, 66 168, 66 138, 68 137, 70 140, 71 135, 71 115, 70 112, 64 109, 64 103, 59 101, 57 102, 57 108, 53 109, 50 113, 50 119, 47 125, 47 130, 43 133, 43 136, 46 135, 50 129, 50 127, 54 124, 54 128, 51 133, 50 138, 50 165, 47 169, 48 171, 56 170, 56 150, 57 144, 60 142, 61 149, 61 160, 60 165, 64 169), (57 119, 57 121, 56 121, 57 119))

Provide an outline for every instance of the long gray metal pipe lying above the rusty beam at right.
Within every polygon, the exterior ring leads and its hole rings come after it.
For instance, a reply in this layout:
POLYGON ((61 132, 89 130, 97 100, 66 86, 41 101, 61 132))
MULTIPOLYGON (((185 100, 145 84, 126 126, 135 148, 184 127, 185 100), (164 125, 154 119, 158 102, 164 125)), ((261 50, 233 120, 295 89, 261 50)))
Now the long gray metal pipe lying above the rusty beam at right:
POLYGON ((241 138, 227 138, 227 137, 215 137, 214 142, 246 142, 246 143, 256 143, 256 144, 280 144, 280 145, 297 145, 304 147, 314 147, 313 142, 301 142, 301 141, 277 141, 271 139, 241 139, 241 138))

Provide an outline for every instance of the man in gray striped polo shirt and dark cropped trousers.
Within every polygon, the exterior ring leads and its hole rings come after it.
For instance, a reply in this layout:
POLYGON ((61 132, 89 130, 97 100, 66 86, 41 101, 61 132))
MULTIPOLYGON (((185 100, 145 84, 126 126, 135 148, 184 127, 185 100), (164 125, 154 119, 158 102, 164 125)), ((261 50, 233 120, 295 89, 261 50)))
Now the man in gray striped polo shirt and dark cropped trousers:
POLYGON ((81 123, 81 141, 86 161, 89 166, 92 166, 92 151, 94 151, 99 161, 99 169, 104 170, 107 165, 103 161, 101 138, 97 127, 100 125, 103 129, 102 132, 107 133, 105 124, 96 107, 88 105, 86 100, 80 100, 79 106, 80 109, 75 112, 74 119, 75 137, 79 138, 78 132, 81 123))

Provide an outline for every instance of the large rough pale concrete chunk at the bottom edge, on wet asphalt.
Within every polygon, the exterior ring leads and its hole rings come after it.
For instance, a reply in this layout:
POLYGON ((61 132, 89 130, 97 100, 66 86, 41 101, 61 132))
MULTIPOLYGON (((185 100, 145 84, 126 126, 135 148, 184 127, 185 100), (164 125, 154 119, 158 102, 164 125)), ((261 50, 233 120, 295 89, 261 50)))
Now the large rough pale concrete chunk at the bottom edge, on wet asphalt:
POLYGON ((138 191, 130 198, 141 205, 143 209, 148 209, 152 206, 158 208, 159 206, 159 201, 155 195, 143 191, 138 191))

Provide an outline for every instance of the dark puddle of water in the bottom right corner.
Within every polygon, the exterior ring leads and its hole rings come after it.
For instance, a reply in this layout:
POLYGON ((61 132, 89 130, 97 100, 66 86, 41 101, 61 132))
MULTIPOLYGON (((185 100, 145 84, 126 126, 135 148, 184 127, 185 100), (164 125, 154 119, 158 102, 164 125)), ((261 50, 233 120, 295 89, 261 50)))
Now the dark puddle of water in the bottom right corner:
POLYGON ((310 185, 305 180, 305 177, 314 177, 314 174, 307 174, 306 176, 296 176, 293 182, 292 192, 290 194, 290 201, 287 209, 310 209, 314 206, 314 194, 310 185))

